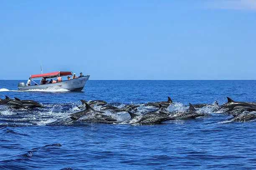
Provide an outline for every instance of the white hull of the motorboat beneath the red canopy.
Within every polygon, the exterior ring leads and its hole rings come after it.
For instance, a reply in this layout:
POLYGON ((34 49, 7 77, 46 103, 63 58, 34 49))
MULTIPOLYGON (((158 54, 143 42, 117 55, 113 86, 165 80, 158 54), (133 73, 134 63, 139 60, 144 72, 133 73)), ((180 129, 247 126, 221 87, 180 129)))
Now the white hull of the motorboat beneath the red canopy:
POLYGON ((31 85, 31 86, 18 86, 19 91, 26 90, 44 90, 44 89, 66 89, 69 91, 81 91, 84 88, 85 83, 89 79, 90 75, 75 78, 72 80, 66 80, 62 82, 56 82, 46 85, 31 85))

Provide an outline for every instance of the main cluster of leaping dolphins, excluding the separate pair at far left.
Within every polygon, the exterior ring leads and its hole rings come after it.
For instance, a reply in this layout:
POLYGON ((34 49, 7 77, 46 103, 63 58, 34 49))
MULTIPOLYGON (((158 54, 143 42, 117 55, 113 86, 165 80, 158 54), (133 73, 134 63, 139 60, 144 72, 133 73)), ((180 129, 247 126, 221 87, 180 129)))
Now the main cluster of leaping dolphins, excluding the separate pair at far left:
MULTIPOLYGON (((187 119, 195 119, 197 117, 204 116, 203 113, 198 112, 196 108, 202 107, 217 107, 217 110, 222 110, 226 114, 232 114, 234 112, 244 111, 256 111, 256 106, 249 102, 235 102, 234 100, 227 97, 228 102, 219 105, 217 101, 213 105, 211 104, 195 104, 192 105, 189 103, 189 108, 187 110, 182 111, 169 111, 167 107, 172 105, 174 102, 170 97, 168 97, 168 101, 165 102, 149 102, 141 105, 125 105, 124 107, 116 107, 107 103, 103 100, 93 100, 93 101, 85 101, 80 100, 82 102, 81 106, 78 106, 79 109, 84 109, 75 113, 70 114, 66 118, 62 118, 59 120, 63 122, 63 119, 67 122, 98 122, 105 124, 113 124, 113 123, 128 123, 128 124, 141 124, 141 125, 152 125, 152 124, 160 124, 169 120, 187 120, 187 119), (84 107, 82 107, 84 106, 84 107), (100 107, 100 111, 93 109, 94 106, 102 106, 100 107), (156 110, 146 112, 144 114, 137 113, 137 108, 140 106, 153 106, 157 107, 156 110), (117 118, 112 115, 107 115, 105 111, 109 111, 112 114, 120 114, 119 112, 128 112, 130 118, 123 122, 117 120, 117 118), (68 121, 67 121, 68 120, 68 121)), ((255 103, 256 104, 256 103, 255 103)), ((232 121, 244 122, 256 119, 256 115, 254 113, 246 113, 246 114, 233 114, 232 121)))

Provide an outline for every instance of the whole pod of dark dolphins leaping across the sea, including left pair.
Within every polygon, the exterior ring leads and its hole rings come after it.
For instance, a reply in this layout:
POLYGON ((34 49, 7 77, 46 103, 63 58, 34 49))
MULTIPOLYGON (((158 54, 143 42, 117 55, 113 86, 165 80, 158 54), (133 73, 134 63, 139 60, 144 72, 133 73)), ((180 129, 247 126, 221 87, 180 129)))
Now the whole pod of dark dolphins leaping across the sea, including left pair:
MULTIPOLYGON (((15 100, 5 96, 5 99, 0 99, 0 105, 7 105, 15 109, 44 107, 34 100, 20 100, 17 97, 14 98, 15 100)), ((170 109, 175 106, 175 102, 173 102, 170 97, 168 97, 167 101, 124 106, 122 104, 123 107, 120 107, 121 103, 108 103, 103 100, 80 100, 82 105, 77 106, 80 109, 78 112, 73 112, 55 122, 49 123, 48 125, 69 125, 73 122, 98 122, 105 124, 127 123, 141 125, 161 124, 162 122, 170 120, 188 120, 202 117, 204 116, 200 111, 202 107, 210 107, 212 113, 221 112, 227 115, 233 115, 233 118, 229 119, 231 122, 245 122, 256 119, 255 102, 238 102, 232 100, 230 97, 227 97, 227 99, 228 102, 223 105, 219 105, 217 101, 215 101, 214 104, 189 103, 187 109, 176 111, 171 111, 170 109), (156 109, 152 110, 152 107, 155 107, 156 109), (148 111, 149 108, 150 111, 148 111), (141 109, 143 111, 141 111, 141 109), (120 116, 125 113, 130 115, 127 117, 128 120, 117 118, 118 115, 120 116)))

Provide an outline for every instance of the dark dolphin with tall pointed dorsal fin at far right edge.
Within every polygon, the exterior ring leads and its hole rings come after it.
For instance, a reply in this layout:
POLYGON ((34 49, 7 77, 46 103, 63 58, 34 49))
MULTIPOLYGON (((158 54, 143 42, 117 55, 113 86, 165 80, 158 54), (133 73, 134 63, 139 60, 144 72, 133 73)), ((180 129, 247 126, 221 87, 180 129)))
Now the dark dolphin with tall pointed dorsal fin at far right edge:
POLYGON ((224 110, 224 112, 232 112, 234 110, 256 110, 256 107, 248 102, 235 102, 234 100, 227 97, 228 102, 221 105, 219 110, 224 110))

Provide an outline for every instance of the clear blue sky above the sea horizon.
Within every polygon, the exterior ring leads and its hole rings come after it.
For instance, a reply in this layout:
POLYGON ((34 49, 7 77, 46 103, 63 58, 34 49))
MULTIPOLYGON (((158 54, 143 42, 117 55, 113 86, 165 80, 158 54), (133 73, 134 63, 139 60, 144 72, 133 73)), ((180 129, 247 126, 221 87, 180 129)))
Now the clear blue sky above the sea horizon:
POLYGON ((256 0, 1 0, 0 79, 256 79, 256 0))

